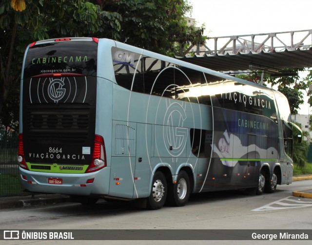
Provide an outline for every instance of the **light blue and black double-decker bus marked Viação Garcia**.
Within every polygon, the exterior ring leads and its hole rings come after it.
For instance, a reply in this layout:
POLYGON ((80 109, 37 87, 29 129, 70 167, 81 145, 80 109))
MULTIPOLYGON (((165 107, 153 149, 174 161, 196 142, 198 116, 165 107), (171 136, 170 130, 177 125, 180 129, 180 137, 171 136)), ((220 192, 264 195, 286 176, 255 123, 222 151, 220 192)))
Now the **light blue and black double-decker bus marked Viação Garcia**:
POLYGON ((182 206, 191 193, 292 183, 281 93, 108 39, 37 41, 20 89, 23 189, 182 206))

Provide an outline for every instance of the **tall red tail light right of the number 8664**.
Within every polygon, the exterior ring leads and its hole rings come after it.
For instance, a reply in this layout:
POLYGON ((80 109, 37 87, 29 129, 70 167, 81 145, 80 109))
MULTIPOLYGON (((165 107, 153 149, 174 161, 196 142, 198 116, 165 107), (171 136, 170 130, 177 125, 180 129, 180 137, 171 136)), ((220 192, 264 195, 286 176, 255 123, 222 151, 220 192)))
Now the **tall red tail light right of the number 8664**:
POLYGON ((86 173, 98 171, 103 167, 106 167, 104 139, 102 136, 96 135, 94 140, 92 161, 86 170, 86 173))

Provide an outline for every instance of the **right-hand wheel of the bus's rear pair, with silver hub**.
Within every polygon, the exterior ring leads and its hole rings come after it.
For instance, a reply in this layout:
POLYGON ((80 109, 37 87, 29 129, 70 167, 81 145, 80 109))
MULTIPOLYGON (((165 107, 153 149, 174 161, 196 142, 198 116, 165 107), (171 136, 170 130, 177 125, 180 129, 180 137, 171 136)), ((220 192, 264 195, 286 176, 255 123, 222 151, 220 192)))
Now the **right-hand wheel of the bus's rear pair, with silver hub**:
POLYGON ((184 206, 190 197, 190 178, 185 171, 180 171, 176 184, 171 184, 168 188, 168 204, 172 206, 184 206))

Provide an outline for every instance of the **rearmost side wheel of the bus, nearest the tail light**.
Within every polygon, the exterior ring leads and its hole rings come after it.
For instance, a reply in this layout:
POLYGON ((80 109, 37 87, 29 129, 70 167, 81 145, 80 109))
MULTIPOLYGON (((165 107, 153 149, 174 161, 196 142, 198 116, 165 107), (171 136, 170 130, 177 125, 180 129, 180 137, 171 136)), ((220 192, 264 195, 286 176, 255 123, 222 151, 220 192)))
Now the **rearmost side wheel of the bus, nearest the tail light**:
POLYGON ((154 174, 151 194, 147 198, 147 208, 156 210, 162 208, 167 197, 167 181, 162 172, 157 171, 154 174))

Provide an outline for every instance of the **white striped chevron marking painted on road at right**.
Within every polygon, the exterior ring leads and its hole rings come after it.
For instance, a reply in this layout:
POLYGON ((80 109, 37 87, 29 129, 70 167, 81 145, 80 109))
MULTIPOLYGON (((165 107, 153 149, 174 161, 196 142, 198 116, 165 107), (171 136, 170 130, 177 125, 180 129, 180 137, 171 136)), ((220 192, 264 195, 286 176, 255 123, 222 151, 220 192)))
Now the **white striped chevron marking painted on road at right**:
POLYGON ((312 201, 298 199, 293 196, 289 196, 270 204, 266 204, 262 207, 253 209, 252 211, 269 211, 269 210, 278 210, 278 209, 287 209, 287 208, 298 208, 298 207, 312 207, 312 201))

